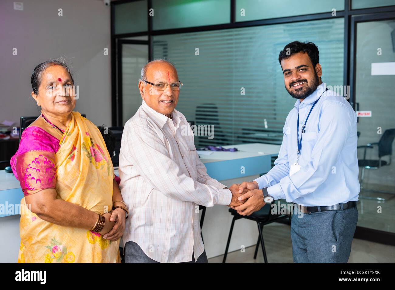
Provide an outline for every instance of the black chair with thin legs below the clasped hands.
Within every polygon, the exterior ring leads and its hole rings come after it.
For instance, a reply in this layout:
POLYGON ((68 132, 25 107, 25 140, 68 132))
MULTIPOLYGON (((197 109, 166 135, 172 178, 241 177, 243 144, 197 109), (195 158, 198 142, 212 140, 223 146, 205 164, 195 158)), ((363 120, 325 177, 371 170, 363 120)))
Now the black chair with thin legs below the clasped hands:
POLYGON ((238 219, 243 219, 243 218, 249 219, 251 221, 255 221, 257 223, 259 235, 258 235, 258 242, 256 243, 256 247, 255 247, 254 259, 256 259, 256 255, 258 253, 258 248, 259 248, 259 245, 261 244, 262 252, 263 252, 263 260, 265 260, 265 263, 267 263, 265 243, 263 242, 263 234, 262 234, 263 226, 273 223, 275 221, 280 221, 282 219, 289 218, 291 220, 291 215, 273 215, 271 213, 270 205, 271 204, 266 204, 265 206, 263 206, 263 208, 261 208, 258 211, 255 211, 251 215, 239 215, 236 210, 229 208, 229 212, 233 215, 233 219, 232 219, 232 224, 230 226, 228 242, 226 243, 226 249, 225 249, 224 259, 222 260, 222 263, 226 262, 226 256, 228 256, 230 238, 232 236, 232 231, 233 231, 233 226, 235 225, 235 221, 238 219))

